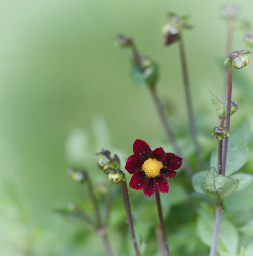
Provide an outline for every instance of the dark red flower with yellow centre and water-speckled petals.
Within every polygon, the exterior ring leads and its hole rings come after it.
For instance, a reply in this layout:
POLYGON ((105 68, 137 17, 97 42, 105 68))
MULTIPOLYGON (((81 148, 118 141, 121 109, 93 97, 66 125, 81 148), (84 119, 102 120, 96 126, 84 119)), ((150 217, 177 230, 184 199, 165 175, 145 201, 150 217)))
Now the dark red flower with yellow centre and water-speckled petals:
POLYGON ((177 175, 175 170, 181 167, 182 158, 173 153, 165 153, 162 148, 153 151, 143 140, 136 140, 133 145, 134 155, 126 162, 126 170, 133 174, 129 186, 133 189, 143 189, 144 195, 150 197, 156 188, 167 194, 167 180, 177 175))

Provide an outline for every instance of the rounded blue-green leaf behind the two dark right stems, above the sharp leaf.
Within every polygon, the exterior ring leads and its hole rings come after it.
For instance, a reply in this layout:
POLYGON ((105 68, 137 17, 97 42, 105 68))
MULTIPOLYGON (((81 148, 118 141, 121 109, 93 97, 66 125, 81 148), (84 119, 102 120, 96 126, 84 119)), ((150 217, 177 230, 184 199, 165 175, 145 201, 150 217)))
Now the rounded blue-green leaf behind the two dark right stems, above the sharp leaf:
MULTIPOLYGON (((239 170, 247 161, 249 147, 247 143, 238 136, 228 140, 227 159, 226 159, 226 176, 239 170)), ((210 167, 217 166, 217 150, 213 151, 210 158, 210 167)))

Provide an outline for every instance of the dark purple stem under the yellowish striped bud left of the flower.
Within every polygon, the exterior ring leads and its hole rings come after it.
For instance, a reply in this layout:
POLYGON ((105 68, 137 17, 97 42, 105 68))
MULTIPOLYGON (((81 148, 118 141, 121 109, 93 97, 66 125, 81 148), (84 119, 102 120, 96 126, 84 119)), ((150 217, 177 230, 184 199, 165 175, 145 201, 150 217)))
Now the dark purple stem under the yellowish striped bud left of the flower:
POLYGON ((127 191, 127 183, 126 183, 126 181, 122 181, 120 184, 121 184, 121 190, 122 190, 124 205, 125 205, 126 214, 127 214, 128 229, 130 232, 131 240, 134 245, 134 252, 135 252, 136 256, 139 256, 140 252, 139 252, 139 248, 136 243, 136 238, 135 238, 135 234, 134 234, 134 226, 133 226, 132 213, 131 213, 130 202, 129 202, 129 197, 128 197, 128 191, 127 191))

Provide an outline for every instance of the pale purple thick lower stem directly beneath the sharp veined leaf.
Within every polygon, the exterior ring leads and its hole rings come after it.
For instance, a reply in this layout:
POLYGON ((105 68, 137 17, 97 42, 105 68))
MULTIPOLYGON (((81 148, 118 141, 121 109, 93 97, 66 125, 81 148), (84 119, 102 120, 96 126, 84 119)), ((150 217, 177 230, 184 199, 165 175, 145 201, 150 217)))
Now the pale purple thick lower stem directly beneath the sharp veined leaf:
POLYGON ((214 219, 214 226, 213 226, 212 244, 211 244, 209 256, 216 256, 216 253, 217 253, 221 212, 222 212, 222 202, 220 203, 217 202, 215 204, 215 219, 214 219))

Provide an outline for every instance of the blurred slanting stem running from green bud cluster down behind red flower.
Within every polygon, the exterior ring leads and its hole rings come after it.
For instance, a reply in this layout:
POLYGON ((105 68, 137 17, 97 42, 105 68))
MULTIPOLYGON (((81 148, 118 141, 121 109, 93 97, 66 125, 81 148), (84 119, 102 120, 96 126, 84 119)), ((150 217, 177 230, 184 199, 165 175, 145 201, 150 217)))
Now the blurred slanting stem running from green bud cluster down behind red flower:
MULTIPOLYGON (((157 112, 158 112, 159 117, 160 117, 160 119, 162 121, 163 127, 164 127, 165 132, 166 132, 166 134, 168 136, 168 139, 170 140, 171 144, 173 145, 173 147, 174 147, 174 149, 176 151, 176 154, 178 154, 180 156, 183 156, 183 154, 182 154, 182 152, 181 152, 181 150, 179 148, 179 145, 178 145, 178 143, 176 141, 176 138, 175 138, 175 136, 173 134, 173 131, 172 131, 172 129, 171 129, 167 119, 166 119, 165 112, 163 110, 161 101, 160 101, 160 99, 159 99, 159 97, 157 95, 155 86, 150 86, 150 92, 151 92, 151 95, 152 95, 152 97, 154 99, 155 105, 157 107, 157 112)), ((188 177, 191 178, 192 175, 193 175, 193 172, 192 172, 192 170, 191 170, 191 168, 190 168, 186 158, 183 157, 183 159, 184 159, 185 172, 188 175, 188 177)))

